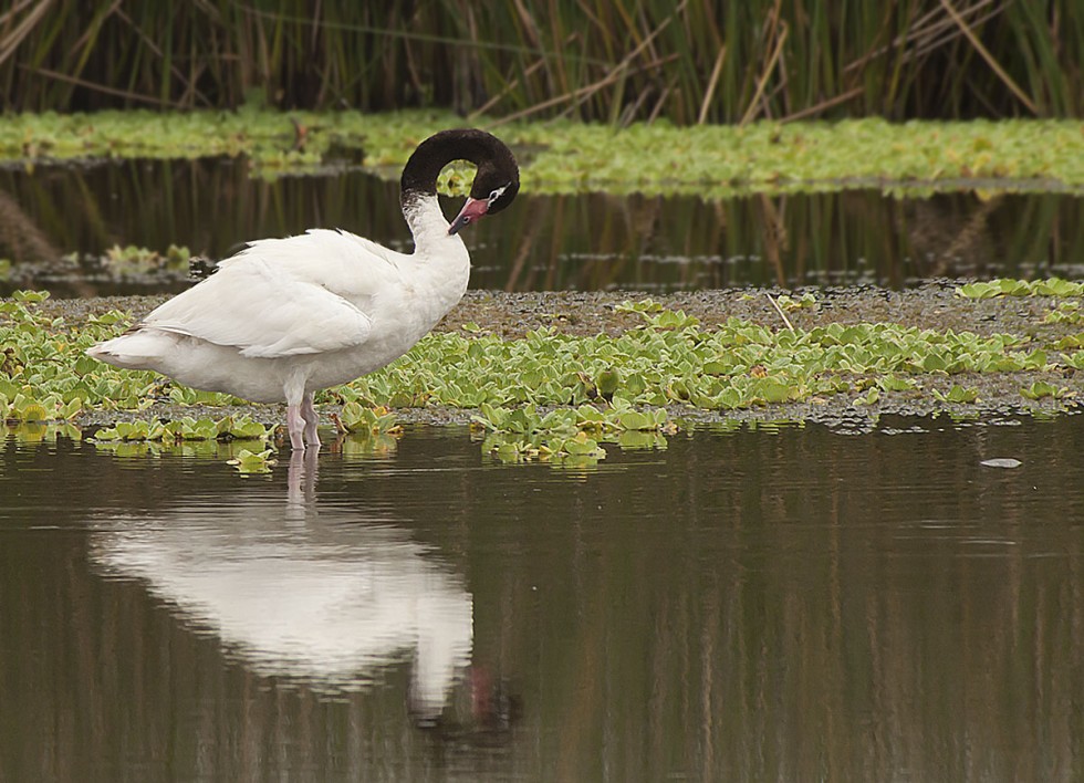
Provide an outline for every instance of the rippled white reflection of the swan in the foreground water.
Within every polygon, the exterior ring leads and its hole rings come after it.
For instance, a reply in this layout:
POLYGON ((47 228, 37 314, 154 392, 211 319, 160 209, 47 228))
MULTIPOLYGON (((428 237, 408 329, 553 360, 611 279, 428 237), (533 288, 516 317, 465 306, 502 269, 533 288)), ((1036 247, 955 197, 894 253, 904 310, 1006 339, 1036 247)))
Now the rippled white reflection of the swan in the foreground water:
POLYGON ((470 662, 471 595, 386 516, 317 505, 310 451, 285 501, 240 491, 101 520, 92 558, 260 675, 341 692, 409 658, 411 709, 436 720, 470 662))

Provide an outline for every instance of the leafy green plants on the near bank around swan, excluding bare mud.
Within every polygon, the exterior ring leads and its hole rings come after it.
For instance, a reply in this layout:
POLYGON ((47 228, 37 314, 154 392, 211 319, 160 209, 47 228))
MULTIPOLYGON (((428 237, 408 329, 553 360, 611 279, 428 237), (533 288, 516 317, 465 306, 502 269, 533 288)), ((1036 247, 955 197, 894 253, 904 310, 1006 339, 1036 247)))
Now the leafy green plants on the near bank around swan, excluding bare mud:
MULTIPOLYGON (((45 304, 45 295, 37 293, 0 301, 3 418, 77 422, 91 410, 140 411, 164 401, 221 407, 237 401, 153 373, 117 370, 83 354, 95 342, 124 331, 129 314, 108 311, 75 323, 49 315, 45 304)), ((477 409, 477 424, 499 436, 494 443, 527 435, 528 452, 561 455, 567 449, 559 441, 579 438, 581 431, 600 449, 605 443, 661 447, 665 438, 657 436, 665 435, 669 419, 654 417, 668 408, 727 414, 837 394, 852 396, 858 405, 890 395, 968 403, 969 374, 1084 369, 1084 335, 1044 342, 1040 335, 1047 330, 978 335, 892 323, 775 330, 739 319, 705 327, 649 302, 622 306, 640 313, 643 323, 618 335, 574 336, 553 327, 518 340, 480 331, 432 333, 397 362, 329 389, 320 401, 343 406, 342 429, 376 435, 396 432, 392 410, 397 408, 477 409), (953 376, 959 376, 960 389, 940 390, 940 379, 953 376), (934 388, 939 390, 935 394, 934 388), (538 413, 543 410, 548 413, 538 413), (525 411, 530 417, 523 419, 525 411)), ((98 440, 265 439, 270 434, 256 421, 179 417, 170 422, 117 424, 98 432, 98 440)), ((580 440, 571 445, 583 447, 580 440)))

